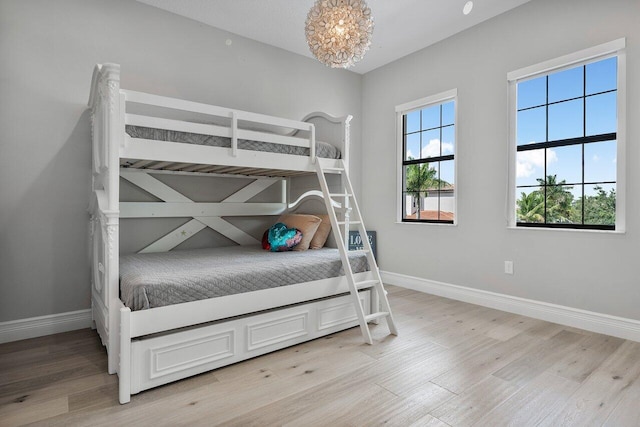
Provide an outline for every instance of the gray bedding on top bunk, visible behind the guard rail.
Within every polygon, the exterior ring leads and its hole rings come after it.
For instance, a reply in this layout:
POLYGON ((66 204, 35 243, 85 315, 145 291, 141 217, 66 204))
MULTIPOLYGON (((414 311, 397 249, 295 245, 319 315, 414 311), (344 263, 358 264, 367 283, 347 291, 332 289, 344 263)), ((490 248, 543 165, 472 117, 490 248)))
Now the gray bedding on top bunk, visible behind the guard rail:
MULTIPOLYGON (((131 125, 126 126, 126 132, 132 138, 209 145, 214 147, 231 147, 231 138, 223 136, 202 135, 199 133, 178 132, 131 125)), ((243 150, 266 151, 269 153, 293 154, 297 156, 309 155, 308 148, 262 141, 249 141, 246 139, 238 140, 238 148, 243 150)), ((316 155, 327 159, 339 159, 341 157, 340 150, 331 144, 321 141, 316 141, 316 155)))

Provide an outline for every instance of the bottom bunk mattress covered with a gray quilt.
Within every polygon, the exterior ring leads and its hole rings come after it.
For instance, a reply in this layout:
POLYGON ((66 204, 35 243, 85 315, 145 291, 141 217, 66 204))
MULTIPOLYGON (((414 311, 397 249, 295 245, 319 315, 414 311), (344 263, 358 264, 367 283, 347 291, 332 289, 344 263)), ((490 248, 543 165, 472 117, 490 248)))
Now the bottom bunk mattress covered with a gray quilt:
MULTIPOLYGON (((354 273, 369 269, 350 252, 354 273)), ((268 252, 260 246, 131 254, 120 258, 120 296, 131 310, 258 291, 344 274, 337 249, 268 252)))

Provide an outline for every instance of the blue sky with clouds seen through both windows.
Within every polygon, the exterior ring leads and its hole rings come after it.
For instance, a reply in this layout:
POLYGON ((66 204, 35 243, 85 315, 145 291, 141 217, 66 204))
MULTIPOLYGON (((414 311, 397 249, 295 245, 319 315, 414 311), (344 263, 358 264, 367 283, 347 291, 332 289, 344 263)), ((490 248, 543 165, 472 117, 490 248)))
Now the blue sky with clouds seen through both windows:
MULTIPOLYGON (((517 113, 518 145, 616 132, 617 93, 607 92, 617 88, 615 57, 587 64, 586 70, 579 66, 549 74, 548 129, 546 85, 546 76, 518 83, 517 108, 522 110, 517 113), (587 96, 586 114, 581 98, 583 95, 587 96)), ((453 101, 442 104, 442 120, 440 105, 407 114, 406 158, 454 154, 454 119, 453 101)), ((545 154, 547 175, 556 175, 558 182, 582 182, 581 150, 581 146, 566 146, 546 149, 546 153, 545 149, 517 153, 516 186, 537 185, 538 178, 544 179, 545 154)), ((585 145, 585 182, 615 181, 616 161, 615 141, 585 145)), ((441 179, 455 184, 453 161, 432 162, 429 165, 439 169, 441 179)), ((594 194, 593 187, 586 185, 585 193, 594 194)), ((614 184, 603 184, 601 187, 607 191, 615 189, 614 184)), ((517 194, 535 189, 518 188, 517 194)), ((576 198, 582 195, 580 185, 574 185, 570 191, 576 198)))

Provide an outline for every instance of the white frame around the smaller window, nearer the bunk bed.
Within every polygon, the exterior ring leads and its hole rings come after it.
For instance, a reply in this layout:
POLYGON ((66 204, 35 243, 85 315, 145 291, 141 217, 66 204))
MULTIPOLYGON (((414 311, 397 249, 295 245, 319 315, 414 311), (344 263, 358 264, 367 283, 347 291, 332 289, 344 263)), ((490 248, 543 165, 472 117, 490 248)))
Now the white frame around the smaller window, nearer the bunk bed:
POLYGON ((435 95, 427 96, 425 98, 416 99, 404 104, 396 106, 396 222, 399 224, 427 224, 427 225, 457 225, 458 224, 458 190, 455 188, 453 193, 453 206, 454 217, 453 224, 442 222, 425 222, 425 221, 403 221, 403 186, 402 179, 402 162, 404 160, 403 147, 404 147, 404 135, 403 135, 403 116, 416 110, 422 110, 423 108, 430 107, 434 104, 443 104, 448 101, 453 101, 453 120, 454 120, 454 138, 455 144, 453 146, 453 175, 454 186, 458 185, 458 89, 450 89, 444 92, 440 92, 435 95))

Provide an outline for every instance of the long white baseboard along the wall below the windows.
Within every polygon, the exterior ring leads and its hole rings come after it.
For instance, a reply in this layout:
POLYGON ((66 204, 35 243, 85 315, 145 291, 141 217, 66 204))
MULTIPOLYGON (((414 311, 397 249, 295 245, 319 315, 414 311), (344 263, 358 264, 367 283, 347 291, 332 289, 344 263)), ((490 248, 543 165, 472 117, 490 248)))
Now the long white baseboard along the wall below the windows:
POLYGON ((638 320, 436 282, 389 271, 381 271, 380 274, 384 283, 389 285, 397 285, 419 292, 521 314, 600 334, 640 341, 640 321, 638 320))

